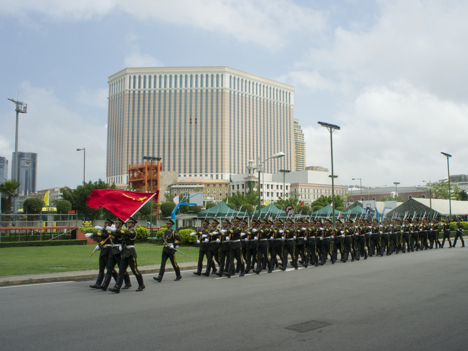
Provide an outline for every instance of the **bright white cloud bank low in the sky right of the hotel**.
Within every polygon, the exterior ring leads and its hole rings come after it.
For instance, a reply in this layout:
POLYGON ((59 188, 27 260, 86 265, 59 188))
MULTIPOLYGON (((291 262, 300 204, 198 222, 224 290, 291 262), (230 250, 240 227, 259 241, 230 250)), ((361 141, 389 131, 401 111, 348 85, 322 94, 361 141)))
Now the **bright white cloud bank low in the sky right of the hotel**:
MULTIPOLYGON (((408 82, 369 86, 353 107, 328 120, 341 127, 333 133, 335 173, 340 184, 362 178, 363 185, 446 177, 441 151, 454 154, 452 174, 466 173, 468 146, 463 132, 468 105, 441 99, 408 82)), ((320 126, 304 128, 307 164, 330 165, 330 135, 320 126)))

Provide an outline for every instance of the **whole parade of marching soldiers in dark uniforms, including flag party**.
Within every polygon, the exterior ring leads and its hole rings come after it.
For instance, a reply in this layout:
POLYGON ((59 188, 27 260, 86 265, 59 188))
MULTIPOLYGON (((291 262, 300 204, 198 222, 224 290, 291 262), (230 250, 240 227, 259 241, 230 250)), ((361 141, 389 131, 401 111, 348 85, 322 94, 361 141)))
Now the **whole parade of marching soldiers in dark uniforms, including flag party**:
MULTIPOLYGON (((119 293, 121 288, 130 288, 132 285, 127 273, 130 267, 138 282, 136 291, 145 289, 134 247, 136 223, 135 219, 130 218, 127 221, 128 230, 123 231, 124 221, 118 219, 114 223, 107 219, 104 228, 95 227, 98 233, 86 234, 86 237, 103 239, 96 247, 100 250, 99 274, 91 288, 106 291, 112 278, 115 286, 109 291, 119 293), (115 266, 119 268, 118 273, 115 266)), ((176 273, 175 281, 182 279, 175 258, 181 238, 172 229, 173 225, 174 222, 169 219, 168 229, 163 234, 161 266, 158 276, 153 277, 159 283, 164 277, 168 259, 176 273)), ((197 244, 200 245, 197 270, 193 274, 230 278, 236 274, 241 277, 251 272, 260 274, 263 270, 268 273, 275 269, 284 271, 288 264, 294 269, 298 269, 299 265, 319 267, 327 261, 335 264, 338 258, 345 263, 367 260, 373 256, 444 248, 446 240, 449 247, 455 247, 458 240, 465 247, 462 235, 461 218, 457 218, 452 244, 450 218, 442 220, 434 217, 431 220, 425 215, 384 218, 382 223, 376 218, 337 219, 334 226, 330 218, 263 218, 249 221, 234 217, 232 220, 214 218, 211 222, 205 218, 201 230, 191 233, 191 236, 197 236, 197 244), (207 263, 203 271, 205 260, 207 263)))

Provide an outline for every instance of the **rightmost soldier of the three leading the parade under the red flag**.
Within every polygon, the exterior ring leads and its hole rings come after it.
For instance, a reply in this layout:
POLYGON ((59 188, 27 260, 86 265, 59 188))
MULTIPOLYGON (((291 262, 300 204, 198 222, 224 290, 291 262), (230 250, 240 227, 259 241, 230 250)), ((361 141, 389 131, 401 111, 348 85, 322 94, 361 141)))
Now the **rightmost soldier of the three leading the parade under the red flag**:
POLYGON ((145 288, 145 284, 143 283, 143 277, 140 271, 138 270, 138 265, 136 261, 137 254, 135 251, 135 239, 137 233, 134 227, 137 223, 138 222, 134 218, 130 217, 127 220, 128 230, 126 232, 120 231, 119 233, 122 236, 125 244, 123 244, 122 259, 120 260, 119 265, 119 277, 117 278, 115 286, 109 289, 109 291, 112 291, 117 294, 120 292, 120 287, 122 286, 124 275, 127 272, 127 267, 130 267, 130 269, 133 272, 133 275, 135 276, 138 282, 138 289, 136 291, 143 291, 143 289, 145 288))

